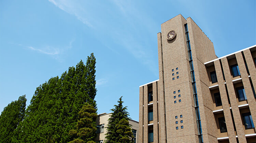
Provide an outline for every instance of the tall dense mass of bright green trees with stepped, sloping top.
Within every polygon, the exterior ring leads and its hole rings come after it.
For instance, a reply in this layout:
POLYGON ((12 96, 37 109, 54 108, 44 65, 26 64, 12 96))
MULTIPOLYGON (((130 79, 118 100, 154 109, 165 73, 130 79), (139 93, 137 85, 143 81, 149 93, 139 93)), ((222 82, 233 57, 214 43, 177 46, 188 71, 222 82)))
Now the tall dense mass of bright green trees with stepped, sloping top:
MULTIPOLYGON (((96 108, 96 59, 91 53, 86 65, 81 60, 69 67, 61 77, 53 77, 40 85, 26 110, 24 121, 16 130, 13 142, 66 143, 76 128, 79 111, 85 103, 96 108)), ((96 112, 96 110, 95 110, 96 112)), ((96 125, 95 125, 96 127, 96 125)))

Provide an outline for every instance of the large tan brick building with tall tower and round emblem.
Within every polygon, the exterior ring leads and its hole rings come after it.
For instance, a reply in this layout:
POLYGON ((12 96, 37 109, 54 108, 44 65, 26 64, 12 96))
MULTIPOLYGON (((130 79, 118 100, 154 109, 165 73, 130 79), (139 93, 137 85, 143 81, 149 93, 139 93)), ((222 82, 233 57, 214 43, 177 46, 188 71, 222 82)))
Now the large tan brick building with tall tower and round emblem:
POLYGON ((140 86, 138 142, 256 142, 256 45, 218 58, 182 15, 157 40, 159 80, 140 86))

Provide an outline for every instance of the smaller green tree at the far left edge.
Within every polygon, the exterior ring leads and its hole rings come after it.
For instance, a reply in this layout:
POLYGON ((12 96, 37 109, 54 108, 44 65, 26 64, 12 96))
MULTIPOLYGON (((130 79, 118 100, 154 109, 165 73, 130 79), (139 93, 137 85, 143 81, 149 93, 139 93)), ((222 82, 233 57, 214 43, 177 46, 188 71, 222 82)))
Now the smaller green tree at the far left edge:
POLYGON ((23 95, 18 100, 12 101, 8 106, 4 107, 0 115, 1 143, 12 142, 14 130, 24 118, 26 101, 26 95, 23 95))

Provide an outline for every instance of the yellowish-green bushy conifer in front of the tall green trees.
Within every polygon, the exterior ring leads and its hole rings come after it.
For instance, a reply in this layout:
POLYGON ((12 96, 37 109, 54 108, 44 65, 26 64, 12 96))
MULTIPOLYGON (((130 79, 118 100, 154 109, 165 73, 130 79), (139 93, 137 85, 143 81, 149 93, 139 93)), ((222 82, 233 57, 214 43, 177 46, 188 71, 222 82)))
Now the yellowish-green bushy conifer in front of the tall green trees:
POLYGON ((76 123, 76 129, 71 129, 70 136, 73 136, 73 141, 69 143, 94 143, 96 138, 96 119, 97 109, 93 105, 85 103, 79 111, 79 120, 76 123))

